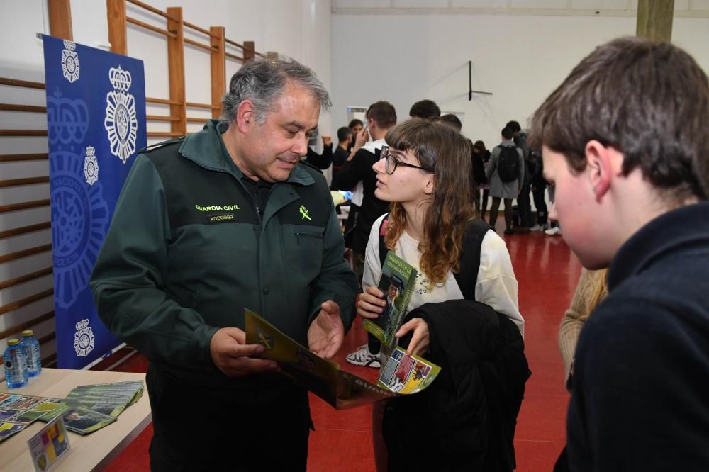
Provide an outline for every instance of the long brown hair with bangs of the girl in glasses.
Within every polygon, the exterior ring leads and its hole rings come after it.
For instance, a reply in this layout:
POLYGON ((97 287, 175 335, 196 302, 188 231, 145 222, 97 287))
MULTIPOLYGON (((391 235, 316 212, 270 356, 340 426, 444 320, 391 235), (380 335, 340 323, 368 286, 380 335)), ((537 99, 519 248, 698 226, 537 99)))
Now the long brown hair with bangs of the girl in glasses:
MULTIPOLYGON (((430 287, 445 283, 449 271, 460 271, 463 235, 475 214, 470 187, 471 148, 448 125, 422 118, 389 130, 386 143, 401 152, 412 152, 421 167, 434 173, 434 190, 418 245, 419 264, 430 279, 430 287)), ((384 242, 393 249, 406 227, 406 211, 397 202, 391 203, 390 211, 384 242)))

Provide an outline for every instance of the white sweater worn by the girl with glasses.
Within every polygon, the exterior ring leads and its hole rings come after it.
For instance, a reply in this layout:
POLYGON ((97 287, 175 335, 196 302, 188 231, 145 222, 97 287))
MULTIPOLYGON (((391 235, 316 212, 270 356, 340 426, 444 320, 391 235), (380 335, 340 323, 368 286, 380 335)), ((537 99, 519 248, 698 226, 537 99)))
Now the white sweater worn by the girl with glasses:
MULTIPOLYGON (((379 217, 372 225, 372 231, 369 232, 369 242, 367 242, 367 251, 364 257, 364 274, 362 275, 364 289, 376 286, 381 275, 379 227, 383 218, 384 215, 379 217)), ((407 311, 418 308, 424 303, 462 299, 463 293, 452 272, 449 272, 445 284, 436 285, 432 289, 428 288, 428 277, 423 274, 419 266, 418 243, 404 231, 394 247, 395 254, 418 271, 407 311)), ((486 232, 480 248, 480 269, 475 283, 475 299, 490 305, 495 311, 510 318, 524 337, 525 320, 520 313, 517 290, 518 283, 505 241, 494 231, 486 232)))

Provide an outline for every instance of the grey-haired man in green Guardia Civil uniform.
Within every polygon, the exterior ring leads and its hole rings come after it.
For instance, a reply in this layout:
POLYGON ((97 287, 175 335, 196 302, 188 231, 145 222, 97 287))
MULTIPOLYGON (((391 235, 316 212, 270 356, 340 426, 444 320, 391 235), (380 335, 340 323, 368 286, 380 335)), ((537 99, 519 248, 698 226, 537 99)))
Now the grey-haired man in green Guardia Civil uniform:
POLYGON ((328 106, 308 67, 254 60, 220 121, 133 164, 91 288, 106 325, 150 361, 153 470, 306 468, 307 392, 245 344, 243 310, 325 358, 352 323, 357 278, 333 200, 299 163, 328 106), (199 428, 184 427, 187 404, 199 428))

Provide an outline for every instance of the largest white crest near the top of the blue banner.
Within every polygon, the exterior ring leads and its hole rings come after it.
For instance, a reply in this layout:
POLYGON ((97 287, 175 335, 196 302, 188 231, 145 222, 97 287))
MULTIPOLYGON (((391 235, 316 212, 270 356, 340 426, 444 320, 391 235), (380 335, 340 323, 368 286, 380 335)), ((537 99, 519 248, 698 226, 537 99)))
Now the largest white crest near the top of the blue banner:
POLYGON ((106 118, 104 128, 111 143, 111 154, 117 156, 123 164, 135 152, 135 140, 138 135, 138 118, 135 114, 135 98, 128 93, 130 72, 111 67, 108 79, 113 91, 106 95, 106 118))

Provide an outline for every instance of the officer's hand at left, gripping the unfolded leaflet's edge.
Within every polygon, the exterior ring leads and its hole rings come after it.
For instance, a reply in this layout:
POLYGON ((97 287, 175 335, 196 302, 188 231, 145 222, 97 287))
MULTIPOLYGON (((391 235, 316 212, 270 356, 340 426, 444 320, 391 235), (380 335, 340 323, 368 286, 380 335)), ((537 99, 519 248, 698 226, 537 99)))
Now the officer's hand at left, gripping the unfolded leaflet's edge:
POLYGON ((275 361, 252 358, 264 352, 264 347, 261 344, 246 344, 246 333, 239 328, 225 327, 214 333, 209 352, 217 368, 228 377, 280 370, 275 361))

